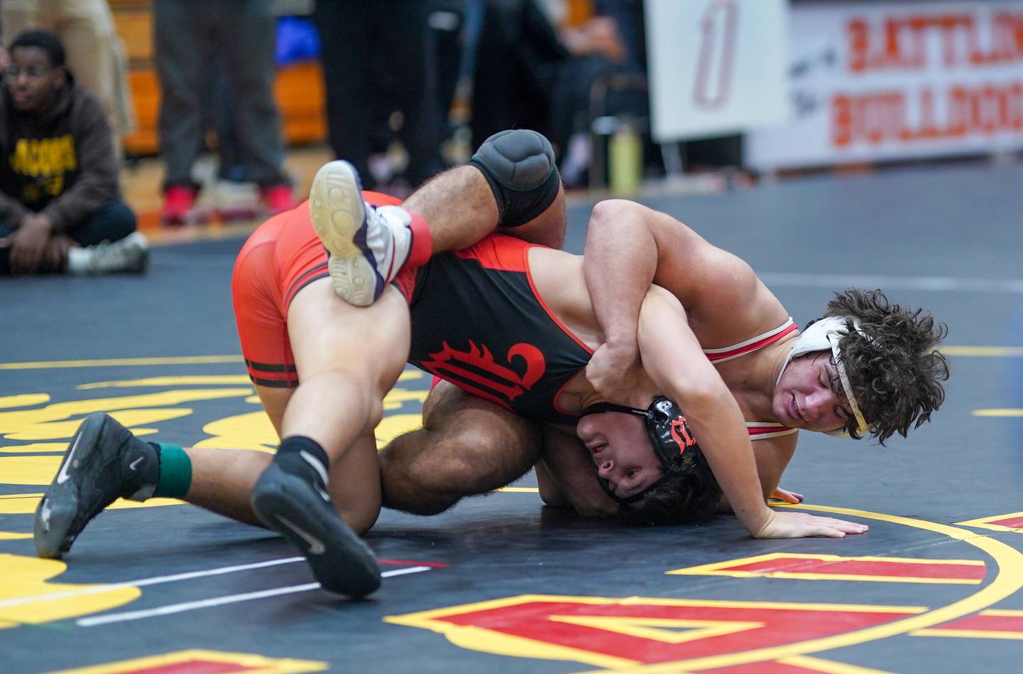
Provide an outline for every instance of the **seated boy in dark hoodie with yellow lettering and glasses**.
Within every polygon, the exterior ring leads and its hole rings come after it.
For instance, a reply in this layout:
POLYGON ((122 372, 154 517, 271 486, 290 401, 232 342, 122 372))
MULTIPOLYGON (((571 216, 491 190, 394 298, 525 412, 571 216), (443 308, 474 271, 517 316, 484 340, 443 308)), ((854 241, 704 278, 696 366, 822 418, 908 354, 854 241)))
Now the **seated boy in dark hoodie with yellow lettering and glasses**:
POLYGON ((120 199, 109 125, 96 97, 76 86, 60 40, 26 31, 9 58, 0 93, 0 275, 145 270, 148 247, 120 199))

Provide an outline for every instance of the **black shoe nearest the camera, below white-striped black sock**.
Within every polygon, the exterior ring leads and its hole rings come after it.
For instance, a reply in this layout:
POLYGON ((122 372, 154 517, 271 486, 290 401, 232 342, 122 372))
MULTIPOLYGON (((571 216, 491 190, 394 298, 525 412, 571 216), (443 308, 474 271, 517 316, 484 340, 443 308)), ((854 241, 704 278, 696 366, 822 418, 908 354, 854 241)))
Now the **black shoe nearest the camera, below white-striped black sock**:
POLYGON ((271 463, 253 490, 253 510, 306 556, 324 590, 362 597, 381 586, 373 551, 345 523, 318 485, 271 463))

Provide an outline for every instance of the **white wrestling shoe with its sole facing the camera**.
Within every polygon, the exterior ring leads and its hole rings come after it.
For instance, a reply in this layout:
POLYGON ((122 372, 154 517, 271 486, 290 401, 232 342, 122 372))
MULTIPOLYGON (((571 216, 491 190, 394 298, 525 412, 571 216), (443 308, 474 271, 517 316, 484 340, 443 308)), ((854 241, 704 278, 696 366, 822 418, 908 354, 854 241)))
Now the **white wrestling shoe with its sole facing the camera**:
POLYGON ((328 253, 335 292, 349 304, 372 304, 408 258, 411 216, 398 206, 364 203, 359 173, 345 161, 316 172, 309 213, 328 253))

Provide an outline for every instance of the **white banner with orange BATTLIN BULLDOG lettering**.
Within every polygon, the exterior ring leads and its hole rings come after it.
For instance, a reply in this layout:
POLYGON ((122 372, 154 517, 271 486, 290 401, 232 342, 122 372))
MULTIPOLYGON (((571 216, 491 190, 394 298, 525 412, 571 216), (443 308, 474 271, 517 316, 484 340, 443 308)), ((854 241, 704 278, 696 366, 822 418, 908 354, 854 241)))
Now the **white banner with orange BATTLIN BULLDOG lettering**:
POLYGON ((792 8, 791 122, 746 136, 759 170, 1023 148, 1023 2, 792 8))

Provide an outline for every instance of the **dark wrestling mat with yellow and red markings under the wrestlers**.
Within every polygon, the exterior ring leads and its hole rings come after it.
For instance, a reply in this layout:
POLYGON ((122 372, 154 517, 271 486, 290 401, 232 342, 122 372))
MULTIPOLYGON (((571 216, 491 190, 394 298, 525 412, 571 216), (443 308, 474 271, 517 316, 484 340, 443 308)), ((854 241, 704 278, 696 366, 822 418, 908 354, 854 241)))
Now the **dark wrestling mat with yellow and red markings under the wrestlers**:
MULTIPOLYGON (((282 539, 188 505, 119 502, 65 560, 32 512, 89 412, 140 435, 269 451, 229 282, 240 240, 158 248, 144 278, 3 280, 0 671, 1018 672, 1023 668, 1023 167, 805 178, 649 198, 746 258, 800 324, 882 287, 948 324, 948 398, 908 439, 803 434, 783 486, 870 523, 756 541, 733 518, 626 528, 535 480, 444 515, 385 511, 383 588, 319 591, 282 539)), ((570 210, 581 250, 589 204, 570 210)), ((380 439, 415 424, 409 369, 380 439)))

